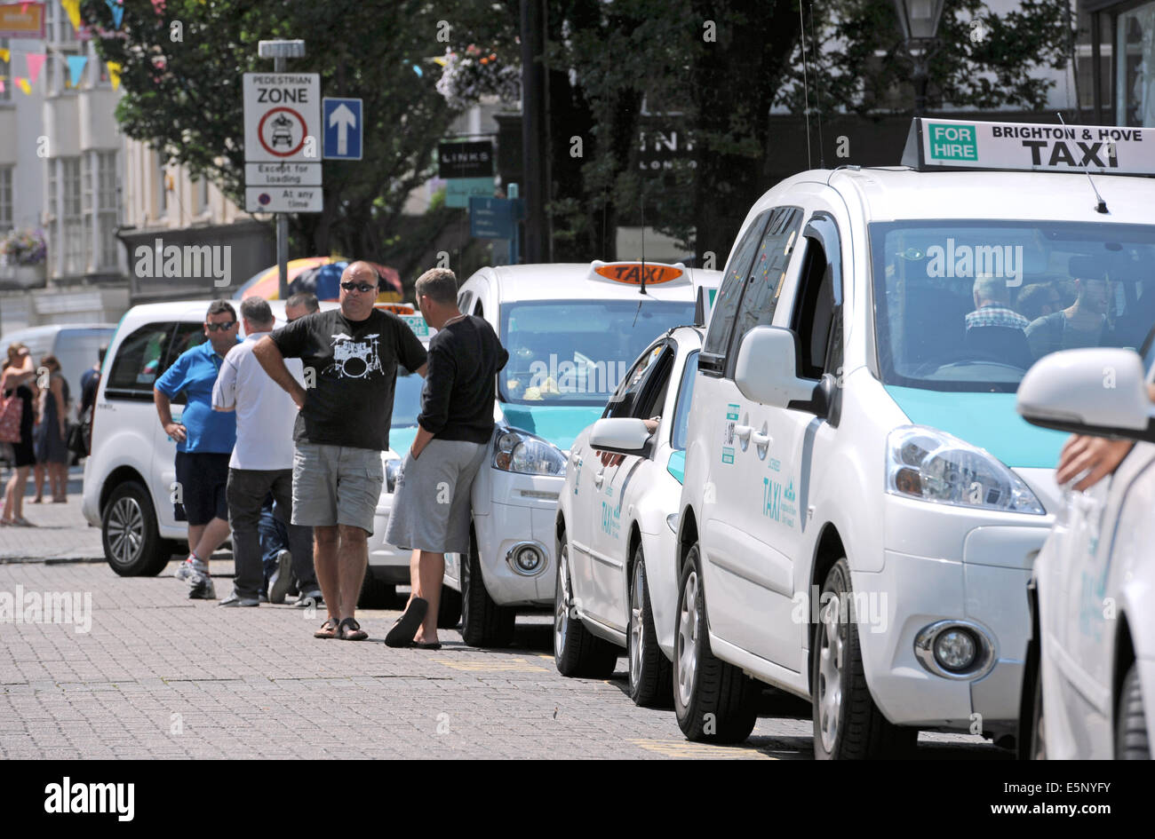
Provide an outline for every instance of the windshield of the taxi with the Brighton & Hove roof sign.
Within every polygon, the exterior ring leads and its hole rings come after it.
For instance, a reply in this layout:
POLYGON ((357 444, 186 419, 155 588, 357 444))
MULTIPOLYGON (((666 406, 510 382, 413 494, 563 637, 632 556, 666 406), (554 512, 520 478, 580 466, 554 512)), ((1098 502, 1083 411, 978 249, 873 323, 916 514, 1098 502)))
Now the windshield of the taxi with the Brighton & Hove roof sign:
POLYGON ((1058 350, 1143 347, 1155 226, 933 220, 870 226, 882 381, 1014 392, 1058 350))

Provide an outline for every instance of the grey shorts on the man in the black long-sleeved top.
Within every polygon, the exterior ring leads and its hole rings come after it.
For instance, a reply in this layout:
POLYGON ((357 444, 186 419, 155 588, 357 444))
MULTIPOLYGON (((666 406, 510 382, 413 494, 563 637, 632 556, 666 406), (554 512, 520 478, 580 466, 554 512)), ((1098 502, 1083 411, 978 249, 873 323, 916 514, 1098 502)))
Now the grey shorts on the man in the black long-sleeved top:
POLYGON ((469 550, 470 495, 489 445, 464 440, 431 440, 397 475, 385 540, 404 550, 469 550))

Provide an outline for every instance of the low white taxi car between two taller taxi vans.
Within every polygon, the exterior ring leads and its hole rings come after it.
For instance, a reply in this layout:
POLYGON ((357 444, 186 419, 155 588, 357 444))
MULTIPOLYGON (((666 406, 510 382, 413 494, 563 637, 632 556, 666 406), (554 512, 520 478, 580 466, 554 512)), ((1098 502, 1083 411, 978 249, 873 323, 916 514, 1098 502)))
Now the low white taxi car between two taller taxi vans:
POLYGON ((574 441, 558 502, 558 671, 605 679, 626 647, 639 705, 670 698, 678 605, 670 557, 701 347, 701 328, 678 327, 642 352, 603 419, 574 441), (604 464, 598 451, 623 457, 604 464))

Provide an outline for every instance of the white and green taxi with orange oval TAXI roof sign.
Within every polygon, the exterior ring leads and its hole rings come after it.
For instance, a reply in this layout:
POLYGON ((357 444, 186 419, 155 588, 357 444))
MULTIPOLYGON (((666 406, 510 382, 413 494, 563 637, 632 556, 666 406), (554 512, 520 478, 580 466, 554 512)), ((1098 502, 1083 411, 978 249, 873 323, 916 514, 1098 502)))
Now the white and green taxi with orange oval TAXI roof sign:
POLYGON ((594 262, 483 268, 462 284, 459 308, 486 319, 509 353, 492 452, 474 484, 472 548, 446 556, 465 643, 504 645, 519 608, 552 605, 569 447, 638 354, 694 322, 696 287, 718 276, 680 263, 594 262))

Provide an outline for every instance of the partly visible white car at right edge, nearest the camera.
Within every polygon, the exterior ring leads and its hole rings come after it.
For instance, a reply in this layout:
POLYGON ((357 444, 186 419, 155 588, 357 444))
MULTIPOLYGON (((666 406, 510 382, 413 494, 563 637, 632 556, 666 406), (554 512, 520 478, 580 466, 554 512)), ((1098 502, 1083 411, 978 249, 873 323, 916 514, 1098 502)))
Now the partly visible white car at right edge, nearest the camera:
MULTIPOLYGON (((1155 245, 1148 264, 1153 256, 1155 245)), ((1148 349, 1148 369, 1153 355, 1148 349)), ((1150 758, 1155 411, 1143 367, 1130 350, 1068 350, 1031 367, 1019 388, 1029 422, 1135 441, 1113 477, 1070 493, 1035 560, 1024 756, 1150 758)))

